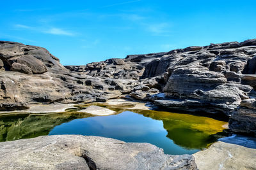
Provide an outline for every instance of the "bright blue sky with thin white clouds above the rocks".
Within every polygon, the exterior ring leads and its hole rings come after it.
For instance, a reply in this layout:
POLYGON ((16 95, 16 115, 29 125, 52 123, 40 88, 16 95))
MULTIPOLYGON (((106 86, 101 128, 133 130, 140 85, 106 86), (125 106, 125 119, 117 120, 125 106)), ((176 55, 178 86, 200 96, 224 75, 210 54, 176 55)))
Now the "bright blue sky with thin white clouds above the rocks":
POLYGON ((3 1, 0 39, 63 65, 256 38, 256 1, 3 1))

